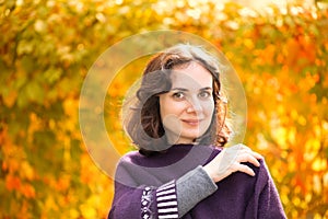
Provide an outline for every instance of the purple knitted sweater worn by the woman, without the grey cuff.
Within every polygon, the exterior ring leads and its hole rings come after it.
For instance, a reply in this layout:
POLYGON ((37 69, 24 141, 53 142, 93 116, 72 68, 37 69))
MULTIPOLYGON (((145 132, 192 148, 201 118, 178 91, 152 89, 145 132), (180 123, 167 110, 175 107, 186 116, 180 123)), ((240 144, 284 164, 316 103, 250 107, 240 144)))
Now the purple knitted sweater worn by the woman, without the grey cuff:
MULTIPOLYGON (((210 162, 221 149, 175 145, 163 153, 144 157, 138 151, 121 158, 116 170, 115 196, 108 219, 238 219, 285 218, 277 188, 265 164, 249 165, 256 176, 236 172, 216 183, 208 197, 178 215, 176 182, 210 162)), ((192 177, 189 176, 189 177, 192 177)), ((194 187, 194 186, 192 186, 194 187)), ((197 193, 197 186, 189 193, 197 193)))

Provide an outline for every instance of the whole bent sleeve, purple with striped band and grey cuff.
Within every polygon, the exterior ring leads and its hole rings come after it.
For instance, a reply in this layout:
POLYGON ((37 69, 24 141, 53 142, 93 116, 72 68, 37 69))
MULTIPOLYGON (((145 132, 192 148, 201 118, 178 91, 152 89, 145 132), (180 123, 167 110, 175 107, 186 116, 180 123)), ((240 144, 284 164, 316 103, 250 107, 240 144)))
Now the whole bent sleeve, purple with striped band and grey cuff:
POLYGON ((108 219, 180 218, 218 188, 201 166, 160 186, 134 183, 136 173, 119 164, 108 219))

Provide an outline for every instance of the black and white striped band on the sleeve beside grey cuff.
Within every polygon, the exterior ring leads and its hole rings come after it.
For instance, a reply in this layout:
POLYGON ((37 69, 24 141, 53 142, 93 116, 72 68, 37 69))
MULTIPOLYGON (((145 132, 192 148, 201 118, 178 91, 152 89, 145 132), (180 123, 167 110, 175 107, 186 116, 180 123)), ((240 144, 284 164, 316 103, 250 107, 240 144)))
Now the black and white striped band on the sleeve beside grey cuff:
POLYGON ((175 181, 171 181, 156 189, 159 219, 178 218, 175 181))

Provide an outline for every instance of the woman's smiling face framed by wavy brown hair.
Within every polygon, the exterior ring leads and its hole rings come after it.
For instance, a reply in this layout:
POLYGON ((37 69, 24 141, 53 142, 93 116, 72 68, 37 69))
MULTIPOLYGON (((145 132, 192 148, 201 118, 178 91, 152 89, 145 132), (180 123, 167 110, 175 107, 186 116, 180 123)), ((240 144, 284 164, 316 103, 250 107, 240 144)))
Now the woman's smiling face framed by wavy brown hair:
POLYGON ((160 95, 160 114, 169 143, 191 143, 209 128, 214 112, 212 74, 198 62, 173 69, 172 89, 160 95))

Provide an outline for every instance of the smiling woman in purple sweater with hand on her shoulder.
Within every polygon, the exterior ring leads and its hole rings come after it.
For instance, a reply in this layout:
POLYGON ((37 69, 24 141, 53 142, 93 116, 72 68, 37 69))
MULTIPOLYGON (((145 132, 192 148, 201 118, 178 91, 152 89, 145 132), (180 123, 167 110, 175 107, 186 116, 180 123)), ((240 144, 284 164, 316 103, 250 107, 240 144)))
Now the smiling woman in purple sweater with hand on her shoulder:
POLYGON ((222 149, 232 130, 216 59, 177 45, 148 64, 125 128, 108 218, 285 218, 260 154, 222 149))

